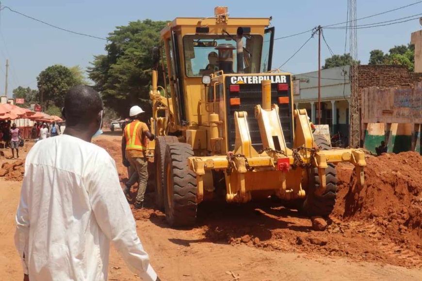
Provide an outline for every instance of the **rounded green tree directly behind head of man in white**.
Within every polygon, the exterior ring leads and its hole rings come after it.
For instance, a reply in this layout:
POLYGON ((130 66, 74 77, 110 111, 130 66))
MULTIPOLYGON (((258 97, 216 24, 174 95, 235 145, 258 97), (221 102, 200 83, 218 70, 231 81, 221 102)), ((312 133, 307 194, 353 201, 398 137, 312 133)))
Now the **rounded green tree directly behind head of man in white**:
POLYGON ((63 107, 67 91, 78 85, 78 79, 74 77, 69 68, 60 64, 54 64, 41 71, 37 81, 43 101, 49 101, 58 107, 63 107))

